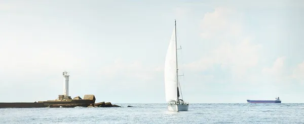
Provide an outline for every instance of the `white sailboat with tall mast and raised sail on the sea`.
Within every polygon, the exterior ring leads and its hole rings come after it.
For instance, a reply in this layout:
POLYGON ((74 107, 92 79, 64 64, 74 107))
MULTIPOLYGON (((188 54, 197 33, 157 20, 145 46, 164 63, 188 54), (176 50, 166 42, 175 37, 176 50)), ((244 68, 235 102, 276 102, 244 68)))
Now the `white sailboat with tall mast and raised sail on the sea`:
MULTIPOLYGON (((181 48, 180 48, 181 49, 181 48)), ((169 111, 187 111, 189 104, 184 102, 178 80, 176 41, 176 20, 165 60, 165 93, 169 111), (181 99, 180 95, 181 94, 181 99)))

